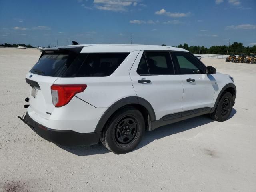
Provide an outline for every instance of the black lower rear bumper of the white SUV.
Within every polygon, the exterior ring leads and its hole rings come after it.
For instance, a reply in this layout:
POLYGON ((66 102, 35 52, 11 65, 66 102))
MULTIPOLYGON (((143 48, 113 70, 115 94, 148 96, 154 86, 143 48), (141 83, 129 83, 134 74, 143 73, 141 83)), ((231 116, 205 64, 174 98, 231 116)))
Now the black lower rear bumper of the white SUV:
POLYGON ((98 143, 101 134, 101 132, 78 133, 72 130, 50 129, 34 121, 28 112, 24 122, 42 138, 63 146, 94 145, 98 143))

